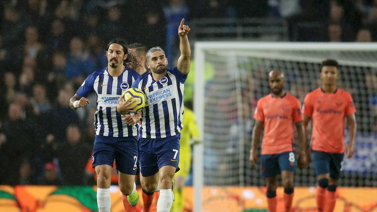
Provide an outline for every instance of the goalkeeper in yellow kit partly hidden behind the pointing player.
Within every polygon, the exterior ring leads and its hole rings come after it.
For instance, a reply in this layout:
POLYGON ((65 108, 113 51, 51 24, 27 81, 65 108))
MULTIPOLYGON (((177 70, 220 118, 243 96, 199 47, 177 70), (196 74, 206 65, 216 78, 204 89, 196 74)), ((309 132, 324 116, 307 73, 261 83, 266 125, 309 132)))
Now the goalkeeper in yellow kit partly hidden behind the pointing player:
MULTIPOLYGON (((185 105, 191 105, 186 103, 185 105)), ((191 167, 191 144, 197 143, 199 140, 199 130, 195 122, 195 114, 188 107, 184 107, 183 112, 183 129, 181 130, 180 140, 180 170, 174 175, 174 202, 171 212, 183 212, 184 195, 183 188, 186 177, 191 167)))

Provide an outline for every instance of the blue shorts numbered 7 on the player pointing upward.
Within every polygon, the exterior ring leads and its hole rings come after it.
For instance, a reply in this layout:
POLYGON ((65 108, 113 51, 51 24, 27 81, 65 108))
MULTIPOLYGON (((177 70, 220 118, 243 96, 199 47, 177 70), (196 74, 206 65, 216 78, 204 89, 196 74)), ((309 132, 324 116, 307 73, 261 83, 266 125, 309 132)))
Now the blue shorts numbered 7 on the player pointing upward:
POLYGON ((139 138, 139 163, 143 177, 149 177, 165 165, 172 165, 179 171, 179 140, 181 134, 167 138, 139 138))

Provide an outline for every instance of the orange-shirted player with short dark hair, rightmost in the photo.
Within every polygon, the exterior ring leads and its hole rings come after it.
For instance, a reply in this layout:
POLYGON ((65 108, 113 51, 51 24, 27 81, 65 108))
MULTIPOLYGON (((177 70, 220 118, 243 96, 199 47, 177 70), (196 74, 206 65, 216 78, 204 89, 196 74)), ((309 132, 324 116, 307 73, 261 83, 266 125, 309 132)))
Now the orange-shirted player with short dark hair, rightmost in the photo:
POLYGON ((307 132, 312 119, 311 149, 316 170, 317 210, 332 212, 336 203, 336 186, 344 152, 352 157, 355 144, 355 106, 350 93, 337 88, 339 78, 338 62, 327 59, 322 62, 322 87, 306 95, 303 106, 304 126, 307 132), (350 143, 345 150, 344 131, 347 118, 350 143), (327 191, 326 191, 327 188, 327 191))

